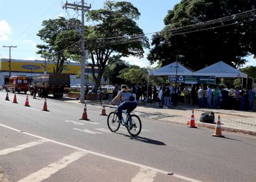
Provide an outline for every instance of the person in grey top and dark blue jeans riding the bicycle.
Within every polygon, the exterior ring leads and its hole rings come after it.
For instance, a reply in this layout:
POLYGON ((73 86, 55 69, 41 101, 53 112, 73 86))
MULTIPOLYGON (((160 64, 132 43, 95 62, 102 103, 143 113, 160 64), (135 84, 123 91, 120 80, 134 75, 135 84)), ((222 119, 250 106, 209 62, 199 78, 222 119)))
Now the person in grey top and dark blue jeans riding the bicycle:
POLYGON ((137 100, 131 93, 131 90, 127 89, 126 85, 121 86, 121 91, 117 94, 117 96, 115 96, 115 98, 110 102, 110 104, 113 104, 120 98, 122 99, 123 103, 117 107, 119 123, 122 122, 122 110, 127 110, 127 114, 130 115, 131 111, 133 111, 137 107, 137 100))

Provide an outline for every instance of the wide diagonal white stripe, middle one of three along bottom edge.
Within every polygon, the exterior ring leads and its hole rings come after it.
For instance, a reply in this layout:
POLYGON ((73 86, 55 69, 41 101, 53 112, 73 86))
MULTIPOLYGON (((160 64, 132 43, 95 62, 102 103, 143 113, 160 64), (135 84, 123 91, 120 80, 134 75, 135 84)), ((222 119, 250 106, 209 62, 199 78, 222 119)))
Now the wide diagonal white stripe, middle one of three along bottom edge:
POLYGON ((28 175, 27 177, 19 180, 18 182, 39 182, 46 180, 57 171, 60 171, 60 169, 63 169, 64 167, 68 166, 68 164, 75 162, 76 160, 80 159, 82 156, 85 156, 86 154, 88 154, 88 152, 73 152, 70 155, 64 156, 64 158, 60 159, 56 163, 51 163, 47 167, 44 167, 39 171, 36 171, 35 173, 28 175))

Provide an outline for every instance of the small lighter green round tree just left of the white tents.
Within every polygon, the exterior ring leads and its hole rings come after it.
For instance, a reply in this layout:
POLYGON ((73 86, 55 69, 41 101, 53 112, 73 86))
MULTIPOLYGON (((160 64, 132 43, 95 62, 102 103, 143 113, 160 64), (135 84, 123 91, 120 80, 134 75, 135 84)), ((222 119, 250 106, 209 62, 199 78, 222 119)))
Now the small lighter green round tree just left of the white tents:
POLYGON ((129 82, 130 84, 146 84, 148 79, 148 72, 146 68, 139 68, 132 66, 131 68, 125 68, 119 72, 119 78, 129 82))

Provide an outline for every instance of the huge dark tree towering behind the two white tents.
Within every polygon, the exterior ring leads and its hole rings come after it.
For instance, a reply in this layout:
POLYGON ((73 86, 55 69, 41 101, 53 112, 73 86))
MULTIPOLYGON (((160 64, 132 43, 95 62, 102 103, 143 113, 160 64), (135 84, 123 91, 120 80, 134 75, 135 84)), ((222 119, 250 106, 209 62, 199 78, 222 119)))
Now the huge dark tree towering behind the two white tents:
POLYGON ((151 44, 154 47, 148 59, 151 63, 160 60, 167 65, 176 60, 176 55, 184 55, 179 61, 195 70, 221 60, 234 67, 242 65, 246 61, 243 57, 255 52, 256 21, 253 16, 239 20, 233 16, 234 20, 229 22, 179 31, 191 31, 185 34, 175 35, 178 32, 175 28, 238 14, 252 10, 254 6, 254 0, 182 0, 174 10, 168 11, 163 31, 153 36, 151 44), (224 26, 230 23, 233 24, 224 26), (210 28, 217 26, 223 27, 210 28), (170 28, 174 29, 170 31, 170 28), (204 28, 209 29, 199 31, 204 28))

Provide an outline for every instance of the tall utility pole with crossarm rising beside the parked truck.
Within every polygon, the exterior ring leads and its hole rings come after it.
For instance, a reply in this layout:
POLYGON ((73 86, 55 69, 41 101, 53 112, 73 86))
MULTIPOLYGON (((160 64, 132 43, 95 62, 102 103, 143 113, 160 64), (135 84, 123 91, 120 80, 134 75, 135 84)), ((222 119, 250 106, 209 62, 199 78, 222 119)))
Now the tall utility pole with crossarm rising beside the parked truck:
MULTIPOLYGON (((84 0, 81 1, 81 5, 77 5, 75 3, 68 3, 66 2, 63 8, 67 9, 73 9, 76 11, 81 10, 82 11, 82 26, 81 26, 81 90, 80 90, 80 102, 84 103, 84 95, 85 95, 85 78, 84 78, 84 72, 85 72, 85 47, 84 47, 84 13, 85 11, 89 11, 91 8, 90 6, 84 6, 84 0)), ((88 50, 86 50, 86 57, 88 56, 88 50)))

